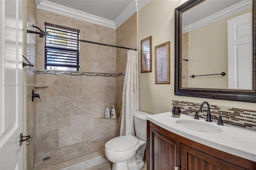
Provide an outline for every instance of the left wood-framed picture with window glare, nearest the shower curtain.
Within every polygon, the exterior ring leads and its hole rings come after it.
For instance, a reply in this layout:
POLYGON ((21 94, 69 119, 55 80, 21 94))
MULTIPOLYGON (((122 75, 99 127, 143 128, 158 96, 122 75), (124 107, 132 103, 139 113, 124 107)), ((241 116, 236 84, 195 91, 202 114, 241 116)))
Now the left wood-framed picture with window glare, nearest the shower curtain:
POLYGON ((140 41, 140 73, 152 72, 151 38, 152 36, 140 41))

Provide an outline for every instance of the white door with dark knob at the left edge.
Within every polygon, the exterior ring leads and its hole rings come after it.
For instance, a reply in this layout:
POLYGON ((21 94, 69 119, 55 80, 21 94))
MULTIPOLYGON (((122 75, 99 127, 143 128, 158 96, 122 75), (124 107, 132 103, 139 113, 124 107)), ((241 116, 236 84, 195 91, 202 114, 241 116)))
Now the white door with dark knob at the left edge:
POLYGON ((0 170, 22 169, 22 0, 0 0, 0 170))

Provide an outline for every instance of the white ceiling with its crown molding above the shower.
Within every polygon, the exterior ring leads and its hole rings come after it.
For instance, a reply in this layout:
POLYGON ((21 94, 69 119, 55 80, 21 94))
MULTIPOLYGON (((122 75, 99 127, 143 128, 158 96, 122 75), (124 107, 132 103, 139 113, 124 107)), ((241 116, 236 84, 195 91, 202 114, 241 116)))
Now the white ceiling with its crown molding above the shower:
POLYGON ((149 0, 35 0, 36 8, 118 28, 149 0))

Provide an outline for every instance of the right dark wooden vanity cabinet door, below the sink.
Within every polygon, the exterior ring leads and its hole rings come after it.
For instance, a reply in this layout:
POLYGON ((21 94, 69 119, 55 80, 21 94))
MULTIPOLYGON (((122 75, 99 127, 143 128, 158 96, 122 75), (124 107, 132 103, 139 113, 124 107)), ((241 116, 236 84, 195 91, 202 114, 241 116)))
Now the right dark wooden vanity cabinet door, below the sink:
POLYGON ((180 144, 180 160, 182 170, 245 170, 184 144, 180 144))

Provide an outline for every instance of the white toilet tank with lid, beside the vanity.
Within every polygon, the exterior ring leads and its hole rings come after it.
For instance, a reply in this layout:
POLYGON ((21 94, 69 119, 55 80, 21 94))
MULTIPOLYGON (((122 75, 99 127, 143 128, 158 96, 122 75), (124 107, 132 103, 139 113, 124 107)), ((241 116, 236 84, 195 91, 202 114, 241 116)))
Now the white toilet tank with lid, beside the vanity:
POLYGON ((133 121, 135 128, 135 135, 142 139, 147 140, 147 121, 146 116, 151 115, 150 113, 136 111, 133 113, 133 121))

